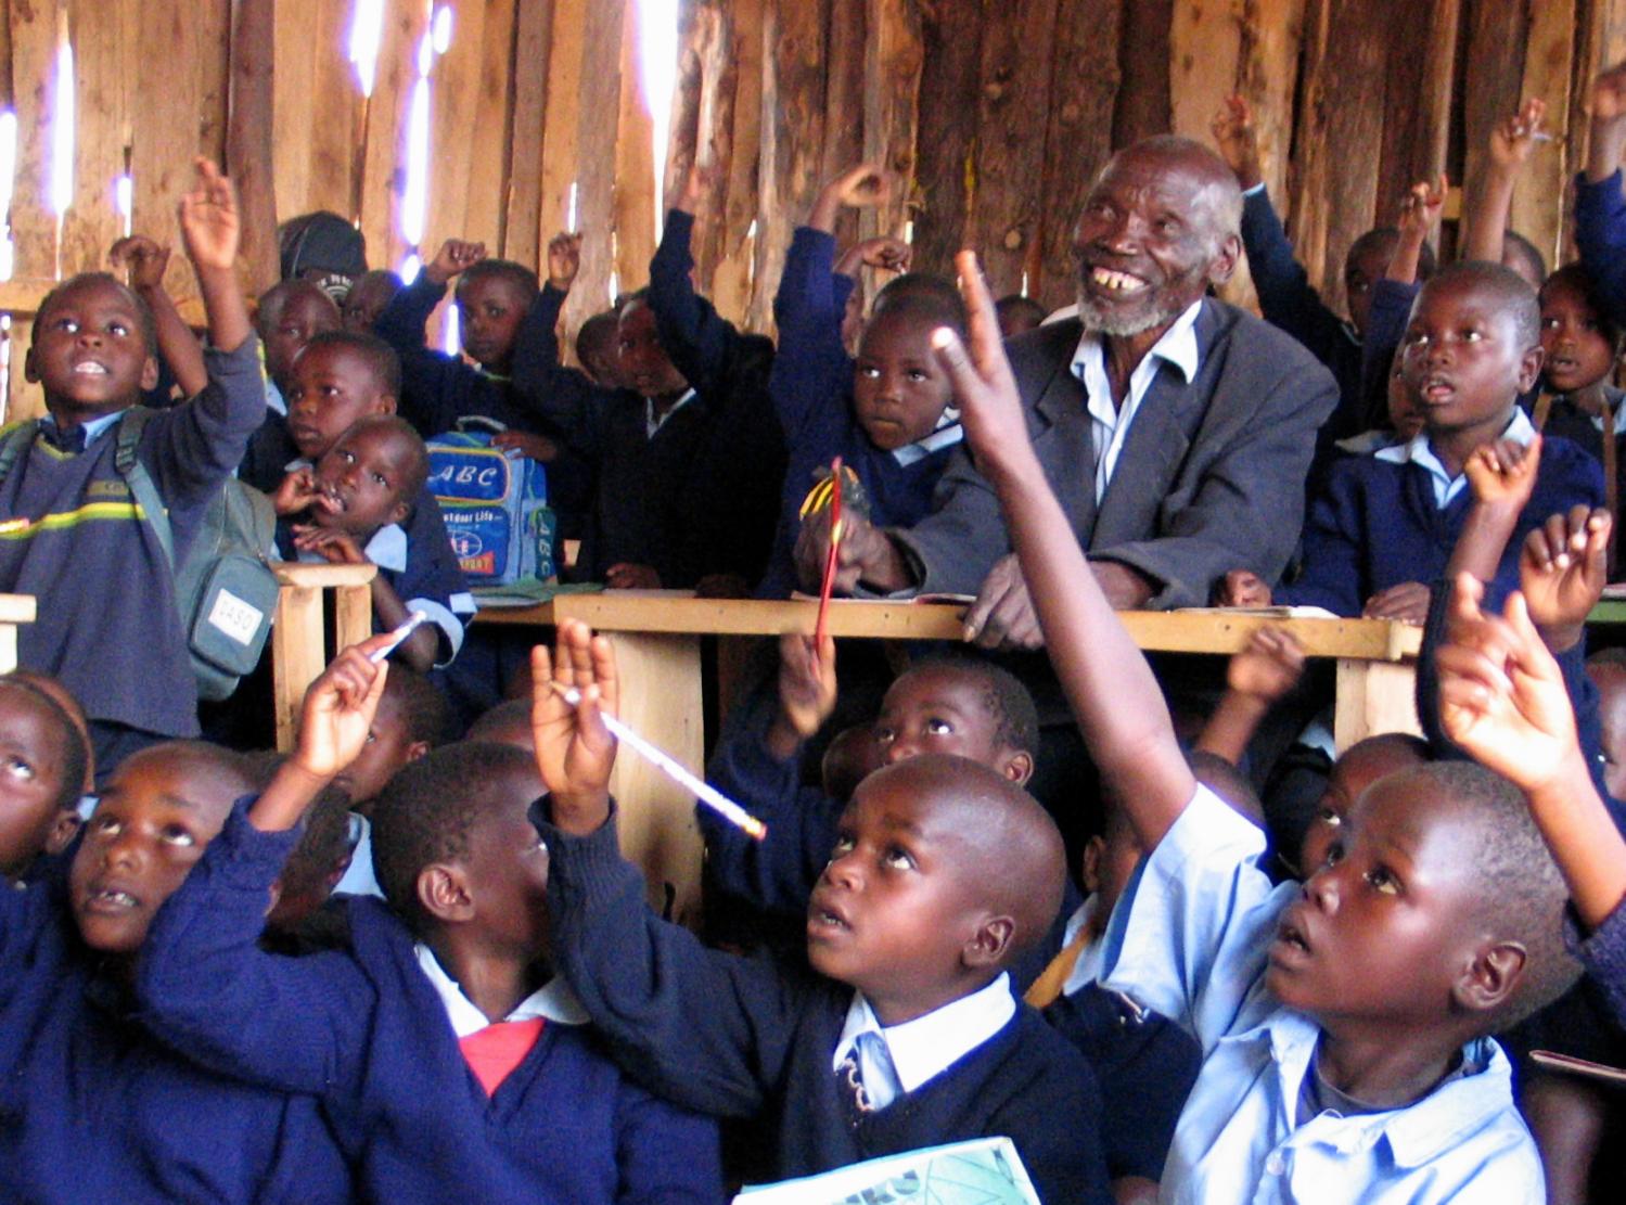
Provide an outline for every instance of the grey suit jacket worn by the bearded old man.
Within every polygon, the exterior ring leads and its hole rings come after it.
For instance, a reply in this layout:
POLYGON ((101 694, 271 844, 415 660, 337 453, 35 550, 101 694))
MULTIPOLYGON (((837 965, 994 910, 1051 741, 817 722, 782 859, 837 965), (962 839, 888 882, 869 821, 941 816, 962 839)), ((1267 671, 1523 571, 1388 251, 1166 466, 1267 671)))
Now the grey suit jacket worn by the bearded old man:
MULTIPOLYGON (((1197 377, 1161 364, 1096 506, 1096 452, 1083 384, 1072 374, 1076 319, 1006 343, 1044 475, 1093 559, 1156 584, 1150 607, 1202 607, 1229 569, 1275 582, 1304 519, 1315 429, 1338 385, 1296 340, 1234 306, 1197 315, 1197 377)), ((933 512, 893 530, 922 592, 976 594, 1011 550, 993 488, 961 450, 933 512)))

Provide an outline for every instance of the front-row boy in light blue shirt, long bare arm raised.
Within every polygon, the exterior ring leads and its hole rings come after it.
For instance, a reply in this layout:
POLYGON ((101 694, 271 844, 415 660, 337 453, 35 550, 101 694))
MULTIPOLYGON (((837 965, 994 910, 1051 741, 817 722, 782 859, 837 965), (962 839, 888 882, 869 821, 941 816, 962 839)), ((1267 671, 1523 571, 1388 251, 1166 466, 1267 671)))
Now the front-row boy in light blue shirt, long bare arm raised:
POLYGON ((1114 911, 1102 982, 1205 1052, 1161 1200, 1540 1200, 1488 1034, 1563 992, 1574 964, 1564 883, 1517 790, 1460 763, 1390 776, 1307 883, 1272 888, 1262 833, 1192 777, 1023 437, 971 252, 961 280, 972 350, 951 333, 943 350, 967 436, 1091 756, 1151 850, 1114 911))

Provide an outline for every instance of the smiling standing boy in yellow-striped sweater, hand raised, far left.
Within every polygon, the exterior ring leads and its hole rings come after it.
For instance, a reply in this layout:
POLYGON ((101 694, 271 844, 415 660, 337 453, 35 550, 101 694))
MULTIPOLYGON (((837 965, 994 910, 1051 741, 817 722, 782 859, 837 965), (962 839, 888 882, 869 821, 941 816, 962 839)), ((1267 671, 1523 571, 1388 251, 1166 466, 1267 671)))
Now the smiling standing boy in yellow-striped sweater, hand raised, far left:
MULTIPOLYGON (((137 446, 177 559, 265 415, 233 267, 236 198, 207 161, 180 203, 180 233, 208 311, 210 384, 146 415, 137 446)), ((198 732, 171 559, 115 465, 120 415, 156 379, 153 350, 146 309, 112 276, 52 289, 23 369, 42 385, 49 416, 0 481, 0 590, 39 600, 36 621, 18 633, 18 662, 54 675, 85 706, 101 774, 143 745, 198 732)))

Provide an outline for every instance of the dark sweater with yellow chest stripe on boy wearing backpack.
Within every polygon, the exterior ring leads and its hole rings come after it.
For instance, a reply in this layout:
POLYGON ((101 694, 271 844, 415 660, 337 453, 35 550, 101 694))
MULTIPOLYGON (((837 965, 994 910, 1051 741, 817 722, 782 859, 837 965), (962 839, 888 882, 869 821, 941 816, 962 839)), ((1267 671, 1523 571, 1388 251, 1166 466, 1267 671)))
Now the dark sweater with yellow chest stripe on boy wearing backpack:
MULTIPOLYGON (((205 353, 210 382, 154 410, 137 455, 169 511, 177 558, 265 415, 259 343, 205 353)), ((41 436, 0 481, 0 592, 39 600, 18 663, 55 675, 93 720, 195 737, 197 688, 169 559, 114 455, 119 423, 80 454, 41 436)))

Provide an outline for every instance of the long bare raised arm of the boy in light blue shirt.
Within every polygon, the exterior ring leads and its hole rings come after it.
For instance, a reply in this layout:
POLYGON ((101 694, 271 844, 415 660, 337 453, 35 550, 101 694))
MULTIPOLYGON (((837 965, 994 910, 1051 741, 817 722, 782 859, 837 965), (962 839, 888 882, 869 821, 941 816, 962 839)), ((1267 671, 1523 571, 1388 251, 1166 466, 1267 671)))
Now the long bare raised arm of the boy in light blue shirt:
POLYGON ((1125 802, 1141 846, 1154 849, 1190 802, 1195 779, 1163 691, 1101 592, 1034 455, 977 257, 961 252, 956 267, 971 346, 938 330, 938 358, 954 382, 980 472, 998 493, 1050 662, 1089 753, 1125 802))

